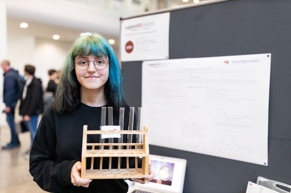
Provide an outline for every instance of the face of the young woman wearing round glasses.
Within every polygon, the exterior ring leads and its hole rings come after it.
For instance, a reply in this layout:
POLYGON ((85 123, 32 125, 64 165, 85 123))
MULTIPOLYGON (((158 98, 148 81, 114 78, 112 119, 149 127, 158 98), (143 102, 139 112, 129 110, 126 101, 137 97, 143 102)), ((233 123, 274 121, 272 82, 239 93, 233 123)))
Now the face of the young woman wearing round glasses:
MULTIPOLYGON (((94 55, 90 55, 90 56, 81 56, 81 57, 77 57, 75 58, 75 71, 76 71, 76 75, 77 75, 77 79, 79 81, 79 83, 81 84, 81 87, 86 88, 88 90, 99 90, 100 88, 104 89, 105 87, 105 83, 108 80, 109 77, 109 62, 106 68, 99 70, 97 68, 100 68, 99 66, 94 65, 94 61, 97 64, 101 64, 102 61, 105 61, 104 59, 102 60, 100 57, 94 56, 94 55), (88 64, 88 68, 85 70, 80 70, 77 68, 77 63, 79 64, 88 64)), ((105 58, 106 60, 108 60, 108 57, 105 58)), ((80 67, 79 67, 80 68, 80 67)), ((86 68, 86 67, 81 67, 82 68, 86 68)))

